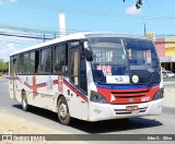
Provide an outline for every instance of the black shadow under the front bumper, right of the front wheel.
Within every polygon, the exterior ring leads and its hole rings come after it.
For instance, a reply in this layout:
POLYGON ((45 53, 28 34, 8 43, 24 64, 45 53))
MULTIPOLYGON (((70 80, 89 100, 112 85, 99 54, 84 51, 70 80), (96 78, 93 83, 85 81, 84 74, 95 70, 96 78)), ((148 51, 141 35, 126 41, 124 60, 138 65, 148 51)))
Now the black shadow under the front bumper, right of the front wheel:
POLYGON ((154 128, 163 125, 161 122, 152 119, 145 118, 129 118, 129 119, 116 119, 116 120, 105 120, 98 122, 85 122, 80 121, 79 124, 72 125, 74 129, 88 133, 108 133, 108 132, 121 132, 128 130, 139 130, 145 128, 154 128))

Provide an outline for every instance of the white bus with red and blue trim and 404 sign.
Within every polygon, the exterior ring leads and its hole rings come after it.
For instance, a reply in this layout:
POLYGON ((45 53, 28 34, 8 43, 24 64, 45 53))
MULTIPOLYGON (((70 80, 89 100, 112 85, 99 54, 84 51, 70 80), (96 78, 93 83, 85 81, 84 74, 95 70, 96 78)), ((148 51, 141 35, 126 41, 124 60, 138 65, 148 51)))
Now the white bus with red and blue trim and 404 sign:
POLYGON ((100 121, 162 113, 154 44, 115 33, 78 33, 10 55, 10 97, 72 118, 100 121))

